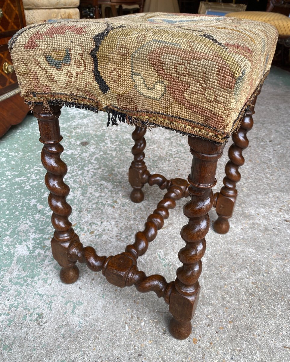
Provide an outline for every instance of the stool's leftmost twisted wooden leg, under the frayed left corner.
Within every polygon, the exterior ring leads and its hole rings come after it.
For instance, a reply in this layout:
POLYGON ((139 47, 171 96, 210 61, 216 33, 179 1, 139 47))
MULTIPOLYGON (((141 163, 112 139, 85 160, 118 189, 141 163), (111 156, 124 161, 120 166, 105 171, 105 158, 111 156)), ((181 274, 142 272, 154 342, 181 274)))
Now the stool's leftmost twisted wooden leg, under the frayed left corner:
POLYGON ((41 161, 47 173, 45 184, 50 194, 48 205, 52 210, 51 223, 55 228, 54 237, 51 240, 52 255, 62 267, 60 279, 64 283, 73 283, 77 280, 80 272, 76 261, 68 260, 67 250, 69 244, 79 241, 77 234, 72 228, 68 217, 72 208, 65 201, 69 194, 69 187, 63 181, 67 173, 67 165, 60 159, 63 139, 59 130, 59 116, 61 106, 50 106, 50 112, 44 110, 43 106, 34 106, 33 114, 38 119, 40 142, 43 143, 41 161))

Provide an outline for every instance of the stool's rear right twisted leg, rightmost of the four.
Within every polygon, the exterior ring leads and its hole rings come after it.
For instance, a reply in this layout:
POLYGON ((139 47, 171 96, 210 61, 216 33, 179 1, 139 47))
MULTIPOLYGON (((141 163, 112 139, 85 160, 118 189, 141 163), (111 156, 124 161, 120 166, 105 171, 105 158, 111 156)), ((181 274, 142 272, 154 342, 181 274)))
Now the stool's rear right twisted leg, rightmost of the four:
MULTIPOLYGON (((257 96, 260 94, 260 90, 257 96)), ((248 147, 247 132, 253 127, 253 117, 255 113, 255 104, 257 96, 253 98, 250 109, 243 117, 240 129, 232 135, 233 144, 229 148, 229 161, 225 167, 226 177, 223 179, 223 187, 221 191, 214 194, 214 206, 218 215, 217 220, 213 224, 213 228, 219 234, 225 234, 230 229, 229 219, 233 216, 234 206, 238 190, 236 183, 240 181, 241 175, 238 171, 239 167, 245 162, 242 151, 248 147)))

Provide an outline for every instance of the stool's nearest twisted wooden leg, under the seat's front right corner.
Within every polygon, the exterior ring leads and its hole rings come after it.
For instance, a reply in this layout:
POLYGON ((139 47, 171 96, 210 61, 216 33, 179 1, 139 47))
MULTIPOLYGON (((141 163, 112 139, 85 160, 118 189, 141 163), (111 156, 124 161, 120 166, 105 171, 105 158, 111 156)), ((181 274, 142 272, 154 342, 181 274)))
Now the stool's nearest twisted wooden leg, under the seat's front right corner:
POLYGON ((205 253, 205 235, 209 230, 208 212, 213 206, 212 187, 216 184, 217 161, 224 145, 188 137, 193 156, 188 191, 191 200, 183 207, 188 224, 180 232, 185 247, 178 253, 182 262, 171 292, 169 311, 173 315, 169 329, 175 338, 184 339, 191 333, 191 319, 194 315, 200 292, 198 278, 201 274, 201 258, 205 253))

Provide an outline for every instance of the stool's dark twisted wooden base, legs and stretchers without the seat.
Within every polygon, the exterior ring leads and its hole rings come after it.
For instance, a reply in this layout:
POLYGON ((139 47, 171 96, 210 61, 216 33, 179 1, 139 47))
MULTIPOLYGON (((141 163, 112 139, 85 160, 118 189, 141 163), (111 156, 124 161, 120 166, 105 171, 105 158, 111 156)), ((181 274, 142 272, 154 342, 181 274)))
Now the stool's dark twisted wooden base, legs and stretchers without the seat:
MULTIPOLYGON (((99 256, 93 247, 84 247, 69 221, 72 212, 66 201, 69 186, 63 181, 67 165, 60 158, 63 152, 59 129, 61 107, 50 106, 48 109, 34 106, 34 115, 39 122, 40 142, 43 143, 41 160, 47 171, 45 184, 50 191, 48 204, 52 210, 51 221, 55 229, 51 240, 52 254, 61 266, 61 280, 64 283, 75 282, 79 276, 76 262, 80 262, 95 272, 102 271, 112 285, 120 288, 134 285, 139 292, 154 291, 158 298, 163 298, 165 303, 169 304, 172 314, 169 330, 172 336, 178 339, 187 338, 191 333, 191 319, 200 294, 201 258, 205 253, 205 236, 210 226, 208 212, 214 202, 218 212, 225 209, 221 207, 222 201, 234 204, 232 199, 236 196, 235 185, 240 179, 238 167, 244 163, 242 150, 248 145, 246 133, 252 127, 255 102, 256 98, 247 110, 239 132, 233 135, 234 144, 229 151, 230 161, 226 166, 225 186, 221 193, 216 195, 216 201, 212 188, 216 184, 217 162, 223 153, 224 145, 189 136, 192 167, 188 181, 181 178, 167 179, 161 174, 150 174, 148 171, 144 162, 146 128, 135 127, 132 133, 134 159, 129 169, 129 182, 133 188, 131 199, 134 202, 143 200, 142 188, 145 184, 158 185, 166 192, 148 216, 144 229, 136 232, 134 242, 128 242, 124 252, 110 256, 99 256), (175 281, 167 282, 165 277, 158 274, 146 275, 138 269, 138 257, 148 250, 158 230, 163 227, 164 220, 169 217, 169 210, 176 206, 176 201, 188 196, 190 200, 183 207, 188 223, 180 231, 185 246, 178 253, 182 266, 176 270, 175 281)), ((230 212, 232 213, 232 210, 230 212)), ((219 218, 225 222, 228 214, 221 212, 219 218)))

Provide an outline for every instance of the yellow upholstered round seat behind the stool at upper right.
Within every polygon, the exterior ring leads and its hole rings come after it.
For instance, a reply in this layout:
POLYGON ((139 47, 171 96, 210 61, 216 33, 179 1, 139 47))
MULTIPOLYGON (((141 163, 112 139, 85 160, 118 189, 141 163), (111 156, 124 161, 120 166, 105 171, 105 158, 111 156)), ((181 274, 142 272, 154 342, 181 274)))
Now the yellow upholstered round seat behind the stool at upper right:
POLYGON ((240 11, 228 13, 226 16, 235 18, 263 21, 274 25, 280 37, 290 37, 290 18, 279 13, 269 13, 265 11, 240 11))

